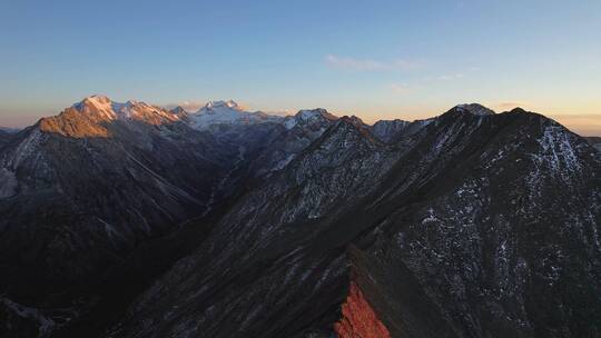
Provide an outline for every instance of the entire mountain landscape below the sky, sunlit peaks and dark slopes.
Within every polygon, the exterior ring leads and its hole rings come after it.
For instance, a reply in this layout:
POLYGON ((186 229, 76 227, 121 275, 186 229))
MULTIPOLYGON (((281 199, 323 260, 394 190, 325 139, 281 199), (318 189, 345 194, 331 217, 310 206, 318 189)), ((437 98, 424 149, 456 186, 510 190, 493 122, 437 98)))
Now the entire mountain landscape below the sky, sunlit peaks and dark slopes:
POLYGON ((0 130, 0 337, 601 337, 593 145, 88 97, 0 130))

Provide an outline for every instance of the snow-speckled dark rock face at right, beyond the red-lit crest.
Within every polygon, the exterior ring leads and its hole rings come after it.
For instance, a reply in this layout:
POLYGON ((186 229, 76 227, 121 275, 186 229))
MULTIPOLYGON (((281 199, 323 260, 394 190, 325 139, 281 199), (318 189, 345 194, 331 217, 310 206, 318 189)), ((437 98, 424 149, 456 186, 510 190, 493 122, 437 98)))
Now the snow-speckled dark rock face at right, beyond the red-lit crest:
POLYGON ((374 266, 411 271, 459 337, 599 335, 599 161, 540 116, 485 119, 449 125, 471 142, 434 142, 455 160, 382 219, 374 266))

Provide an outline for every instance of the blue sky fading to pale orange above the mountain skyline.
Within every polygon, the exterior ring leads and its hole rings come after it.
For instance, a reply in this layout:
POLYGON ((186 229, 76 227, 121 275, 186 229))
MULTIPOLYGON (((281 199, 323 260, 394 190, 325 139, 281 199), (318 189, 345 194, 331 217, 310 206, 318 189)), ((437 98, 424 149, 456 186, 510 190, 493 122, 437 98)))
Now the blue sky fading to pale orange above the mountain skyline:
POLYGON ((104 93, 367 121, 476 101, 601 133, 599 0, 3 0, 0 46, 0 125, 104 93))

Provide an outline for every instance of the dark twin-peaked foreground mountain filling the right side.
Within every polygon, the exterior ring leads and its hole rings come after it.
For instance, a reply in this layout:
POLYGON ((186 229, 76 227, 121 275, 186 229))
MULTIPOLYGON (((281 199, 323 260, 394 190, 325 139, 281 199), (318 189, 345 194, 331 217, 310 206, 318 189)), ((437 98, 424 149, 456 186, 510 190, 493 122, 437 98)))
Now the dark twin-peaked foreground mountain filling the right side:
POLYGON ((519 109, 456 107, 394 145, 343 118, 107 337, 361 335, 358 291, 391 337, 595 337, 600 168, 519 109))

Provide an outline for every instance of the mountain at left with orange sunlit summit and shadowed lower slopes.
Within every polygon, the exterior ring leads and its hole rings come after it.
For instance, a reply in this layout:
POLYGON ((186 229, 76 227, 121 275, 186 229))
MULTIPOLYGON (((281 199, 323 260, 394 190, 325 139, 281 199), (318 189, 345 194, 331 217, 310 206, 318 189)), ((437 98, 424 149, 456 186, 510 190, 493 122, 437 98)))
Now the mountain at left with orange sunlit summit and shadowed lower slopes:
POLYGON ((0 153, 0 292, 69 306, 138 243, 203 213, 234 151, 104 97, 19 132, 0 153))

